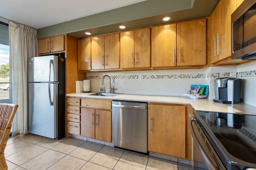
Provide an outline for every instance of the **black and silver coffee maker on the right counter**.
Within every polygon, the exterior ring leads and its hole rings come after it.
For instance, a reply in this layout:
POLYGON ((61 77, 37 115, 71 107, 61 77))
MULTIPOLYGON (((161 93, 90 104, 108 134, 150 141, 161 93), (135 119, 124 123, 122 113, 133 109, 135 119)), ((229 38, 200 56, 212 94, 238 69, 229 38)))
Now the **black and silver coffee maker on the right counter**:
POLYGON ((242 79, 240 78, 216 78, 214 80, 214 102, 224 104, 240 103, 242 79))

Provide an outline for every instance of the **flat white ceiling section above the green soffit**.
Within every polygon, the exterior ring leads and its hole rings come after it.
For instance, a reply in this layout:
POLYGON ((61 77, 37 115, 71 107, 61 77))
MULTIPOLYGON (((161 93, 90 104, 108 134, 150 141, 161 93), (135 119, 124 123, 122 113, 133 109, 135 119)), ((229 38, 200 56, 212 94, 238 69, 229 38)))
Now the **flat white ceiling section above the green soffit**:
POLYGON ((38 29, 146 0, 0 0, 0 17, 38 29))

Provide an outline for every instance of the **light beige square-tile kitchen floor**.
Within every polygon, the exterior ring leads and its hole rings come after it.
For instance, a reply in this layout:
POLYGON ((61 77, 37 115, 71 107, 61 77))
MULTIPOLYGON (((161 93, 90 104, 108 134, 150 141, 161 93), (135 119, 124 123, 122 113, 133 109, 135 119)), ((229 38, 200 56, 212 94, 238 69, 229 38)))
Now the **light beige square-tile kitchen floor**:
POLYGON ((8 170, 192 170, 152 156, 82 141, 23 134, 5 149, 8 170))

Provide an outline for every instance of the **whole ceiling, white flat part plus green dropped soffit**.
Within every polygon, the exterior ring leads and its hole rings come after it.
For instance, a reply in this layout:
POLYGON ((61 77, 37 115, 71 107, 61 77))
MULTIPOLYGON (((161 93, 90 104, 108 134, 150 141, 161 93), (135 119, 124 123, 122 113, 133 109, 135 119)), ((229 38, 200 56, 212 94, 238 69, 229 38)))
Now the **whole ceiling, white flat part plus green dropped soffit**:
MULTIPOLYGON (((210 16, 219 0, 0 0, 0 17, 38 29, 38 38, 86 37, 210 16)), ((1 21, 1 18, 0 18, 1 21)))

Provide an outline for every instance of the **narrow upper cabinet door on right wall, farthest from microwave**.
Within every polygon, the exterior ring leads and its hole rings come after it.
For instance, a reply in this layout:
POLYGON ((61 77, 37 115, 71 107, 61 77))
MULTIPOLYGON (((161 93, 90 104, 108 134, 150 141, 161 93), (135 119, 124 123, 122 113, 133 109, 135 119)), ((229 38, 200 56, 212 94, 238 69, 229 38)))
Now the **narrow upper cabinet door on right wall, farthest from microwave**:
POLYGON ((220 60, 220 55, 218 55, 218 34, 220 34, 220 2, 211 15, 211 64, 220 60))

